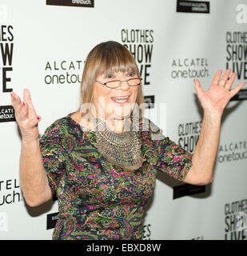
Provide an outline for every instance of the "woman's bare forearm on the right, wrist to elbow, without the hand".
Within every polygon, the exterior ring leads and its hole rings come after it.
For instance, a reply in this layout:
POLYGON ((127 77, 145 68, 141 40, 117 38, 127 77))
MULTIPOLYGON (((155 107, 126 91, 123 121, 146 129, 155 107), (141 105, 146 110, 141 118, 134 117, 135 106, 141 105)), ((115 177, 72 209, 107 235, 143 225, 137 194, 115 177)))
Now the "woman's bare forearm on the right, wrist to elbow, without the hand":
POLYGON ((205 112, 200 137, 192 158, 194 173, 201 182, 209 183, 213 180, 220 130, 221 114, 205 112))

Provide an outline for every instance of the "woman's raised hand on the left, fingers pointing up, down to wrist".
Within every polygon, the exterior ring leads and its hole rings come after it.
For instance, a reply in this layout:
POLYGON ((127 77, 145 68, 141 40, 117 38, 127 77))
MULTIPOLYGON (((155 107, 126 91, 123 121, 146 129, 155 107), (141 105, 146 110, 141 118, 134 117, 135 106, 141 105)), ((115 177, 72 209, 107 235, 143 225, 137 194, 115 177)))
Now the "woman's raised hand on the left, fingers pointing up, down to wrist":
POLYGON ((30 91, 27 89, 23 90, 23 103, 14 92, 11 92, 10 95, 11 104, 14 107, 15 119, 22 133, 22 140, 38 140, 38 122, 41 118, 34 110, 30 91))

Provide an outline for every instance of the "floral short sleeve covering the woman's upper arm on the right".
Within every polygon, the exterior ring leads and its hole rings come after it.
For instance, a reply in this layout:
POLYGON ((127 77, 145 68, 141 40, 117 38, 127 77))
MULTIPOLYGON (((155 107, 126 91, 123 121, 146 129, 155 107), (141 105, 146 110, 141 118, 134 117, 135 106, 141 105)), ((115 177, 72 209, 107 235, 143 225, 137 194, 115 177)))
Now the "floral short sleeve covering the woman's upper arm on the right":
POLYGON ((157 149, 157 170, 183 181, 192 166, 192 154, 165 137, 153 122, 150 122, 150 134, 153 146, 157 149))

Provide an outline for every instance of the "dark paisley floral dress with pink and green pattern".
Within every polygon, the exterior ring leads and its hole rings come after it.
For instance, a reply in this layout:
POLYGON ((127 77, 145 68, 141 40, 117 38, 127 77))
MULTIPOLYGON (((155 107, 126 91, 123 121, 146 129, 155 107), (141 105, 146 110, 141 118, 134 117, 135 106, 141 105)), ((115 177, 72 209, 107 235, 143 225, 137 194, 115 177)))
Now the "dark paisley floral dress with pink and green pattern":
POLYGON ((126 172, 98 153, 94 130, 80 126, 72 114, 51 124, 40 139, 50 188, 58 196, 53 239, 141 239, 157 170, 182 181, 192 155, 139 118, 144 161, 126 172))

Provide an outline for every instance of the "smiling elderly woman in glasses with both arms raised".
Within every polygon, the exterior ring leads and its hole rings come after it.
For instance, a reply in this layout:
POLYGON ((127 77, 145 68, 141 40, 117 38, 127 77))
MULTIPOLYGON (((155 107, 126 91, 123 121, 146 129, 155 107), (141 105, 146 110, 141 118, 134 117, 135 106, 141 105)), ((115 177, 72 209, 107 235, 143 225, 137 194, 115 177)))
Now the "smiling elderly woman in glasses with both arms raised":
POLYGON ((39 138, 29 90, 23 102, 11 93, 22 133, 21 186, 30 206, 58 195, 53 239, 141 239, 145 206, 157 170, 182 182, 213 180, 221 115, 236 74, 221 70, 204 91, 200 138, 191 155, 143 118, 141 78, 132 54, 118 42, 102 42, 86 58, 81 107, 59 118, 39 138), (229 78, 229 80, 228 80, 229 78))

